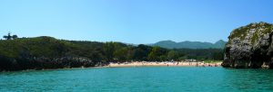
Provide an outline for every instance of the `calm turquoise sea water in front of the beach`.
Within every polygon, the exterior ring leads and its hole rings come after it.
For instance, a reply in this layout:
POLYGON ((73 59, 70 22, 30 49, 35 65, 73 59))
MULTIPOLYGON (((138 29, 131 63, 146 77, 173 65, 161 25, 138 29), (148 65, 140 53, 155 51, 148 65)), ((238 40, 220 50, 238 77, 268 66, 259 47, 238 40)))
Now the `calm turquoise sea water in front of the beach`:
POLYGON ((139 67, 2 72, 0 91, 273 91, 273 70, 139 67))

